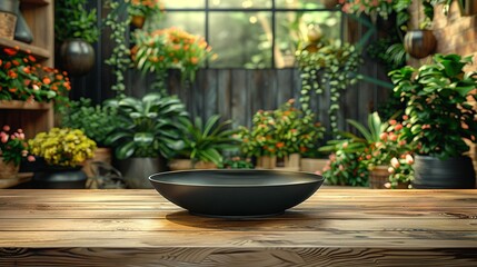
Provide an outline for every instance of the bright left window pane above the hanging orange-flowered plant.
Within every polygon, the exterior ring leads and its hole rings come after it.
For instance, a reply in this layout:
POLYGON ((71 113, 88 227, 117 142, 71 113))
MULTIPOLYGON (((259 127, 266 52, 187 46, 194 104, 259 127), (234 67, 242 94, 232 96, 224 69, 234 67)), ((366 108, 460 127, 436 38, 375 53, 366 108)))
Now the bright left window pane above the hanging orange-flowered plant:
POLYGON ((176 27, 192 34, 206 36, 206 13, 173 11, 167 12, 160 28, 176 27))

